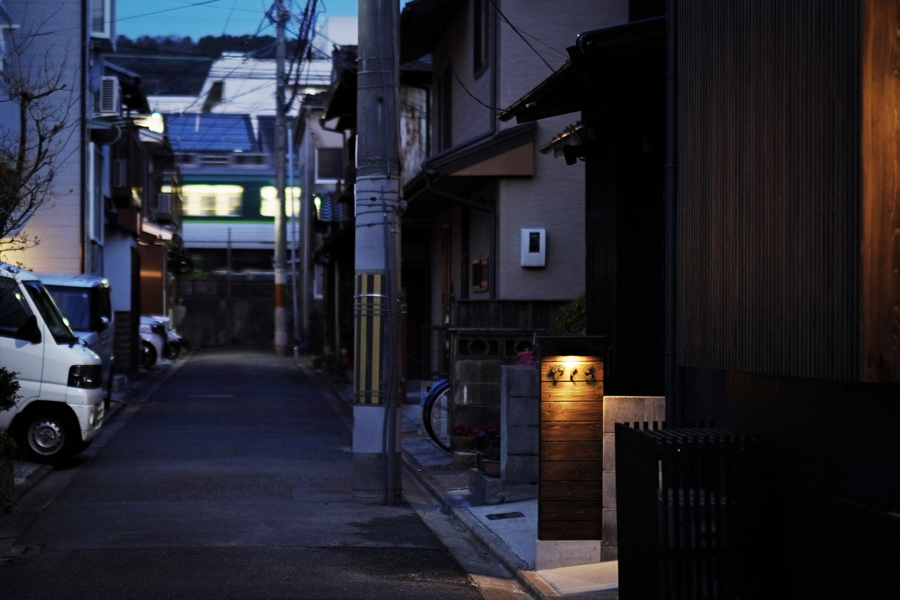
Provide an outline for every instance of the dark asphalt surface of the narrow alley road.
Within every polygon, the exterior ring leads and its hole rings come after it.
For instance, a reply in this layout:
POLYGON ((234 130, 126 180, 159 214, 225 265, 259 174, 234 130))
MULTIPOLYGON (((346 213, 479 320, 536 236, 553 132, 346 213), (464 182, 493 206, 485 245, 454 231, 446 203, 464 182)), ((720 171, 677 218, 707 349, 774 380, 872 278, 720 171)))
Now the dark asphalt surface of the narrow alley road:
POLYGON ((0 597, 481 598, 409 506, 350 501, 350 445, 293 359, 193 354, 24 498, 0 597))

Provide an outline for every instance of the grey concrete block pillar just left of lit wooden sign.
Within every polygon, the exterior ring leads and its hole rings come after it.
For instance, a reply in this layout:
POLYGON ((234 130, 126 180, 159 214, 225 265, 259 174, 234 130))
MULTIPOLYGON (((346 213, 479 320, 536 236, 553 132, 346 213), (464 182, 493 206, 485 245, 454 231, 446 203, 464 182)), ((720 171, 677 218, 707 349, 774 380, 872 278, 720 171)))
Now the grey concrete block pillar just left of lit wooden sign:
POLYGON ((501 367, 500 478, 504 483, 537 483, 541 407, 537 375, 533 366, 501 367))

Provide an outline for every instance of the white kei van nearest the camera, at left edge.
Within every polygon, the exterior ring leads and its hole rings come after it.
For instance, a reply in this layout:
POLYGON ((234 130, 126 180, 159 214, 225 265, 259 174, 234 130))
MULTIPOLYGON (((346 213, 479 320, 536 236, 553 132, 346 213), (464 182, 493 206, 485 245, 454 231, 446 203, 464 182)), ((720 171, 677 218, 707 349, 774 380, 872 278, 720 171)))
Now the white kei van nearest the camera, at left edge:
POLYGON ((31 461, 81 452, 103 425, 103 365, 66 325, 37 276, 0 263, 0 366, 16 373, 19 399, 0 412, 31 461))

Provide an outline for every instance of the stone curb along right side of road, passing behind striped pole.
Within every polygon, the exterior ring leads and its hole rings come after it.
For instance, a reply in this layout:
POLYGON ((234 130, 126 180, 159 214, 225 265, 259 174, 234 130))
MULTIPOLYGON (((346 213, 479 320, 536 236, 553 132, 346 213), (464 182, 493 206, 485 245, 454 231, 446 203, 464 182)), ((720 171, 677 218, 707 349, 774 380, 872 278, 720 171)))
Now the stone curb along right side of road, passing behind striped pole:
MULTIPOLYGON (((317 389, 320 391, 323 390, 323 387, 317 382, 324 383, 335 397, 347 405, 350 404, 349 400, 340 393, 340 390, 338 390, 338 388, 322 373, 313 372, 308 366, 301 363, 298 363, 298 367, 308 379, 313 381, 313 385, 315 385, 317 389)), ((352 422, 349 426, 352 428, 352 422)), ((427 490, 428 494, 440 503, 447 514, 455 519, 456 523, 460 524, 467 532, 471 533, 477 540, 482 542, 485 549, 491 552, 494 559, 509 569, 513 574, 513 578, 516 579, 516 582, 524 587, 530 596, 536 600, 558 600, 563 597, 557 594, 556 590, 554 590, 554 588, 539 574, 533 570, 527 570, 528 566, 525 562, 518 558, 515 552, 509 550, 506 543, 500 540, 500 537, 498 537, 496 533, 491 532, 490 529, 479 522, 472 513, 459 506, 453 506, 440 491, 432 485, 428 478, 421 474, 420 470, 422 469, 422 466, 419 464, 419 461, 416 460, 416 457, 405 450, 402 451, 401 457, 403 460, 403 468, 410 474, 410 477, 416 479, 419 486, 427 490)))

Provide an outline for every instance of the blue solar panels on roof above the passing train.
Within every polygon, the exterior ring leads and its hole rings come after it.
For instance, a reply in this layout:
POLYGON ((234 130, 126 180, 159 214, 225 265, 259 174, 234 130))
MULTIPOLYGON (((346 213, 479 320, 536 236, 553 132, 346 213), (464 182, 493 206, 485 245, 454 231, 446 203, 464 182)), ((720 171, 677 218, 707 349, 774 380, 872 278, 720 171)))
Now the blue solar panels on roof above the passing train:
POLYGON ((246 114, 177 114, 166 116, 175 151, 256 149, 246 114))

